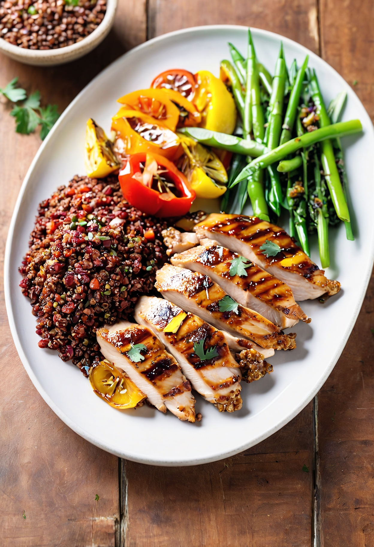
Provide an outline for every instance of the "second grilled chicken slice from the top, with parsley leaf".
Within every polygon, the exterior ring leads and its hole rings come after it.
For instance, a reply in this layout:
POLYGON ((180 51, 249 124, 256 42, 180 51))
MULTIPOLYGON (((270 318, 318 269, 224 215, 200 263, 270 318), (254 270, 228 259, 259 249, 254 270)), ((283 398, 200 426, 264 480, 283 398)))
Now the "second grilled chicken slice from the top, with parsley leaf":
POLYGON ((282 329, 292 327, 299 319, 310 321, 283 281, 226 247, 205 242, 174 254, 171 263, 208 275, 239 304, 258 311, 282 329))

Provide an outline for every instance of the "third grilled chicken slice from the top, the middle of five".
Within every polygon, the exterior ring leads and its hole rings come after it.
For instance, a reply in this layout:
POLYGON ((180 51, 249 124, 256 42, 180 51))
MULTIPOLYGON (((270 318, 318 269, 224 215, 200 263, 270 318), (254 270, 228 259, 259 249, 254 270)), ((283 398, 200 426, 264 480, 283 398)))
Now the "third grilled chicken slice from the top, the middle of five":
POLYGON ((164 264, 156 272, 155 287, 164 298, 217 329, 265 348, 293 350, 296 347, 295 334, 284 334, 260 313, 237 304, 206 275, 164 264))

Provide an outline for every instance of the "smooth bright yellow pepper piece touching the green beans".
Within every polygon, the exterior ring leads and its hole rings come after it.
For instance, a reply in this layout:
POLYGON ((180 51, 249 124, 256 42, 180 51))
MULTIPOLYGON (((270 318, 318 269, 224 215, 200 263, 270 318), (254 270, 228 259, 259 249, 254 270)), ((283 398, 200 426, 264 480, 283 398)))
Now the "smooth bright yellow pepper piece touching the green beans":
POLYGON ((194 103, 201 113, 201 127, 232 135, 236 124, 236 106, 225 84, 211 72, 195 74, 198 84, 194 103))

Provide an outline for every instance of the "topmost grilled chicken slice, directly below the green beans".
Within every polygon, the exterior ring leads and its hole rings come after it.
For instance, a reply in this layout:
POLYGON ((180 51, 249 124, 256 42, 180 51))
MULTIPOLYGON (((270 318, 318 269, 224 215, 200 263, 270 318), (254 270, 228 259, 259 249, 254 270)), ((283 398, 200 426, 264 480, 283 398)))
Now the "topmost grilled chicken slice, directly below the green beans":
POLYGON ((248 258, 277 277, 291 288, 295 300, 318 298, 325 293, 329 296, 340 290, 338 281, 330 281, 319 267, 291 240, 279 226, 270 224, 258 217, 244 217, 236 214, 209 214, 195 226, 199 239, 208 237, 232 251, 248 258), (267 249, 260 247, 270 242, 267 249), (275 249, 275 251, 274 251, 275 249), (265 254, 263 254, 265 253, 265 254))

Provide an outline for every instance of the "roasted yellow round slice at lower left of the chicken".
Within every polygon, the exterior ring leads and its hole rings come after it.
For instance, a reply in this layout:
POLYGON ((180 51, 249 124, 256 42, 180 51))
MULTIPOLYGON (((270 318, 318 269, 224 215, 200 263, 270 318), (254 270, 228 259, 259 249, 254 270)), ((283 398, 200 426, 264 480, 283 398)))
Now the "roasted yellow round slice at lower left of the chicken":
POLYGON ((96 395, 116 409, 132 409, 147 397, 107 359, 91 367, 89 380, 96 395))

